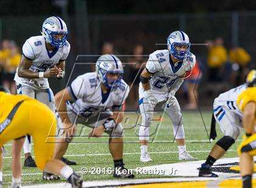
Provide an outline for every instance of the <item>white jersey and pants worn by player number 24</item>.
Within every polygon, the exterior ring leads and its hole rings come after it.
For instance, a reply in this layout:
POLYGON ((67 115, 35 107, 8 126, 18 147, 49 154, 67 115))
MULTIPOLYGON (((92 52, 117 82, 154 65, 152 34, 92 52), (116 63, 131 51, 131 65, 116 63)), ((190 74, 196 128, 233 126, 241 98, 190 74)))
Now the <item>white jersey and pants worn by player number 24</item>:
MULTIPOLYGON (((171 61, 169 50, 157 50, 149 55, 146 69, 149 73, 152 73, 152 78, 149 82, 152 95, 157 99, 157 102, 166 101, 170 92, 176 92, 179 89, 181 84, 176 84, 176 82, 182 80, 180 76, 192 70, 195 63, 196 57, 193 53, 189 53, 185 59, 177 62, 175 65, 171 61)), ((151 107, 148 104, 147 99, 144 98, 144 90, 141 83, 139 87, 139 96, 140 112, 142 116, 140 140, 148 141, 149 126, 151 125, 154 107, 151 107)), ((180 112, 179 102, 175 96, 173 97, 175 100, 174 105, 169 106, 167 104, 164 109, 169 118, 171 118, 176 139, 185 138, 183 118, 182 113, 180 112)))

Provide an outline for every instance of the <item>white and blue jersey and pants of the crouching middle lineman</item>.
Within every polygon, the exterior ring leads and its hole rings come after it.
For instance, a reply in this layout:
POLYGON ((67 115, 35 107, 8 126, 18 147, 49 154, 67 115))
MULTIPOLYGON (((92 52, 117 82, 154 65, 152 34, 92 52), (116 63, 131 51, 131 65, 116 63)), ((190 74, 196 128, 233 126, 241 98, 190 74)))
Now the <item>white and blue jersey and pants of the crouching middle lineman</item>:
MULTIPOLYGON (((129 95, 129 86, 121 79, 118 87, 113 87, 108 93, 102 93, 101 81, 96 72, 78 76, 68 87, 73 101, 67 102, 67 113, 71 123, 80 123, 94 128, 101 126, 113 115, 112 110, 122 109, 129 95)), ((121 123, 106 127, 106 132, 114 136, 123 136, 121 123), (114 130, 113 130, 114 129, 114 130)))

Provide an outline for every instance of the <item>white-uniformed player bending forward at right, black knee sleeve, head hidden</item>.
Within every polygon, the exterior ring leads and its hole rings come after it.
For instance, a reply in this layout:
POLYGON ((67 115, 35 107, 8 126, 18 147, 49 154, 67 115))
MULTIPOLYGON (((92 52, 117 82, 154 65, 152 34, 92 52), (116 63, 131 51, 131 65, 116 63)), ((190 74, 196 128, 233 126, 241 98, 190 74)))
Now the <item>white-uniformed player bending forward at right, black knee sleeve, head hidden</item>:
MULTIPOLYGON (((236 106, 238 96, 246 90, 246 84, 230 89, 227 92, 221 93, 213 103, 213 115, 211 135, 215 132, 215 121, 218 122, 224 136, 219 139, 213 146, 205 163, 199 169, 199 176, 218 177, 211 171, 211 167, 216 160, 221 158, 235 143, 235 140, 240 135, 240 130, 243 128, 243 112, 236 106)), ((216 138, 216 132, 211 136, 216 138)))

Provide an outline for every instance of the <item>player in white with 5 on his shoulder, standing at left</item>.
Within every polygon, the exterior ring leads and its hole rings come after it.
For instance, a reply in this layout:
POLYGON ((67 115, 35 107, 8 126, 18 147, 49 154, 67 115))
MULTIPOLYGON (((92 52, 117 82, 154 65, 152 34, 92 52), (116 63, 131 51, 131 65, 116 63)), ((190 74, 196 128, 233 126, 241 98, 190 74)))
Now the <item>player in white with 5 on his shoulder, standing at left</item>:
MULTIPOLYGON (((65 59, 70 50, 66 41, 68 29, 61 18, 52 16, 43 22, 41 33, 41 36, 32 36, 24 43, 15 82, 17 93, 43 102, 55 113, 54 94, 48 78, 61 79, 65 74, 65 59)), ((35 161, 30 156, 30 136, 26 136, 24 153, 24 166, 35 167, 35 161)), ((64 158, 63 161, 67 162, 64 158)))

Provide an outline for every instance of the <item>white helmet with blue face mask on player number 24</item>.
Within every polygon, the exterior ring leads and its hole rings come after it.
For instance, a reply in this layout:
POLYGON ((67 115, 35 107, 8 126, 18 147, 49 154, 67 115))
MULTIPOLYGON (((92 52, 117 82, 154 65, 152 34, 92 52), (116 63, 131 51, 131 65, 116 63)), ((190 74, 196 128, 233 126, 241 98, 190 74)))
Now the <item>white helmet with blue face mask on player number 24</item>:
POLYGON ((167 47, 169 53, 171 53, 174 58, 183 60, 190 53, 190 39, 188 35, 182 31, 172 32, 167 38, 167 47), (176 45, 186 45, 186 50, 176 50, 176 45))

